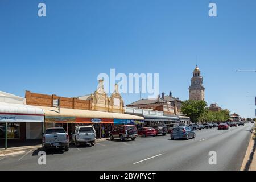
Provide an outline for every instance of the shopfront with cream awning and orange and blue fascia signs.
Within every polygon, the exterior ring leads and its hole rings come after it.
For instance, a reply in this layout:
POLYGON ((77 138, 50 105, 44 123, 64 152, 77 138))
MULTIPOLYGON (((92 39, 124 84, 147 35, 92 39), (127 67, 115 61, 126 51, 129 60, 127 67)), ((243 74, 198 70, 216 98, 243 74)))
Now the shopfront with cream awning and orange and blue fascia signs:
POLYGON ((55 107, 38 106, 46 113, 45 127, 64 127, 69 136, 75 131, 76 126, 93 125, 97 138, 109 137, 114 122, 119 123, 140 123, 143 117, 129 114, 109 113, 92 110, 79 110, 55 107))

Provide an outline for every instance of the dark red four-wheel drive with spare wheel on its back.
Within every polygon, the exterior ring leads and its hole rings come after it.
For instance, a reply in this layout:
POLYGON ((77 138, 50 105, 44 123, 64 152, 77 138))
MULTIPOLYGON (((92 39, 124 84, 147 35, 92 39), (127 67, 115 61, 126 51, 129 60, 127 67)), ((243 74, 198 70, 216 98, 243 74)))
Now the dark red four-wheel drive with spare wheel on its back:
POLYGON ((119 138, 121 141, 130 138, 131 140, 135 140, 138 136, 137 129, 134 125, 120 125, 114 127, 113 131, 109 133, 110 140, 114 140, 114 138, 119 138))

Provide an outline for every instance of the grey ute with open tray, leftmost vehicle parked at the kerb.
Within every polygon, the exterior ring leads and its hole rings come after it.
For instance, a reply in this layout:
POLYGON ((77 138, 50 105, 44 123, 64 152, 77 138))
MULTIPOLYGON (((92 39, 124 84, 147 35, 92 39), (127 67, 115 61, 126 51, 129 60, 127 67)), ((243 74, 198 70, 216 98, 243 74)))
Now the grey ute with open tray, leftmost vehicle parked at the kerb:
POLYGON ((68 134, 63 127, 48 128, 42 135, 42 147, 44 151, 47 148, 64 148, 65 151, 68 151, 68 134))

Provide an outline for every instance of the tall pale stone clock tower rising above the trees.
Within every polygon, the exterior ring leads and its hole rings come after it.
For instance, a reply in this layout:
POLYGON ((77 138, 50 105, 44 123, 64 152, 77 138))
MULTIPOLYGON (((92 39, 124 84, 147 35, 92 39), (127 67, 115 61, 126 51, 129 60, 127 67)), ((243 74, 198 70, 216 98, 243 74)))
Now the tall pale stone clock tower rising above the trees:
POLYGON ((201 77, 200 69, 196 65, 191 78, 191 86, 189 86, 189 100, 204 101, 204 89, 203 77, 201 77))

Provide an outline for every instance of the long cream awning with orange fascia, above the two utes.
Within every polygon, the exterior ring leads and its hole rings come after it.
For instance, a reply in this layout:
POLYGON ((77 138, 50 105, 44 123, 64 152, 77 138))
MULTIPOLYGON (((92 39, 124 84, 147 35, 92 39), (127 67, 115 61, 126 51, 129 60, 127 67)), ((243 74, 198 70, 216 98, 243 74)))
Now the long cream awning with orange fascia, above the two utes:
POLYGON ((56 107, 36 106, 43 109, 46 122, 67 122, 67 123, 114 123, 114 119, 144 120, 143 117, 122 113, 109 113, 93 110, 67 109, 56 107))

